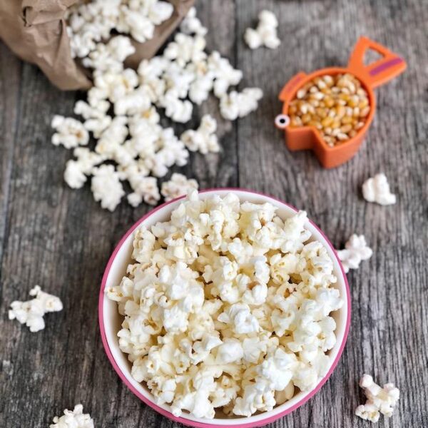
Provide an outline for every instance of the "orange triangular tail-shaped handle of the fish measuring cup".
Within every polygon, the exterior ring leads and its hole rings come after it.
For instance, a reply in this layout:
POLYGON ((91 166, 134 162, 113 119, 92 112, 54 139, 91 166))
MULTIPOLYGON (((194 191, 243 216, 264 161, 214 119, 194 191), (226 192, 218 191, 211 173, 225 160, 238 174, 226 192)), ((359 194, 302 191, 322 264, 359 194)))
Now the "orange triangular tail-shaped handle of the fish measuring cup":
POLYGON ((348 68, 351 73, 365 78, 372 88, 387 83, 392 78, 399 76, 407 67, 404 59, 389 51, 384 46, 368 39, 360 37, 350 57, 348 68), (364 57, 366 52, 372 49, 382 55, 378 61, 365 66, 364 57))

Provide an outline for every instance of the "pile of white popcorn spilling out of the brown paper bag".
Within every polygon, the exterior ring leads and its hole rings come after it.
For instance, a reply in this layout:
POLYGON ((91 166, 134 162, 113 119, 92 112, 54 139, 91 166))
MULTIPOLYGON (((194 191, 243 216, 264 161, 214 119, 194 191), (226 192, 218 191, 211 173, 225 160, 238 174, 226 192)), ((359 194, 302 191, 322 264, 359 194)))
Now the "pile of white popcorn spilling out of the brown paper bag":
POLYGON ((156 205, 161 199, 157 179, 173 165, 188 163, 189 151, 220 151, 212 116, 203 116, 197 130, 178 138, 173 128, 161 126, 159 111, 173 122, 186 123, 193 106, 213 92, 223 118, 234 121, 255 111, 263 96, 258 88, 230 91, 243 73, 217 51, 205 52, 207 30, 194 8, 163 55, 141 61, 137 71, 125 68, 123 62, 135 49, 130 37, 111 37, 111 32, 146 41, 172 13, 170 3, 158 0, 94 0, 68 13, 73 55, 93 68, 94 86, 87 101, 78 101, 74 107, 82 121, 54 117, 52 143, 74 149, 75 159, 68 161, 64 180, 77 189, 92 176, 93 198, 102 208, 116 209, 126 195, 125 181, 132 190, 128 203, 156 205), (96 141, 94 151, 80 147, 88 146, 90 136, 96 141))

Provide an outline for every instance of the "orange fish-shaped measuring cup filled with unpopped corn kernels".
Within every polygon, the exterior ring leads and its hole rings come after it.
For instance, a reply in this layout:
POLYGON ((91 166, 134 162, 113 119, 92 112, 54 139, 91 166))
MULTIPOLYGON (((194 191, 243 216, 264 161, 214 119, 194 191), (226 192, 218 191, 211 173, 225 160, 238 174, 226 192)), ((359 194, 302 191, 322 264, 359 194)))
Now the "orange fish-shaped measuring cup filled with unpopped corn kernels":
POLYGON ((282 88, 282 114, 275 118, 285 130, 292 151, 310 149, 322 166, 334 168, 357 153, 373 121, 374 88, 398 76, 406 68, 402 58, 387 48, 361 37, 346 68, 303 72, 282 88), (378 61, 366 65, 367 51, 378 61))

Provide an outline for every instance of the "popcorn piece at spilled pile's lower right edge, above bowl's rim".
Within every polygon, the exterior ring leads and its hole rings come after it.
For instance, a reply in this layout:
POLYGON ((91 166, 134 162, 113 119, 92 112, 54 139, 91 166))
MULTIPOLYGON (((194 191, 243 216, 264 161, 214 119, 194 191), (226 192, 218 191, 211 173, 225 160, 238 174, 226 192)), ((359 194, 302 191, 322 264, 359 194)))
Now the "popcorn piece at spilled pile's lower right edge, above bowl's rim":
POLYGON ((215 135, 217 121, 209 114, 203 116, 196 131, 188 130, 181 134, 180 140, 190 151, 199 151, 203 155, 218 153, 220 146, 215 135))

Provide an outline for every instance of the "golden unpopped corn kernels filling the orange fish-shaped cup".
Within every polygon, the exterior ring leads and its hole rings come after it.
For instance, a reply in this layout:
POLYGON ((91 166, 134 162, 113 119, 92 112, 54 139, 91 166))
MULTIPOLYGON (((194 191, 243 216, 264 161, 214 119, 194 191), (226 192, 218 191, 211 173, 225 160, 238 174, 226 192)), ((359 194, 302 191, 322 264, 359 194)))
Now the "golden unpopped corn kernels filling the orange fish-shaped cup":
POLYGON ((350 73, 312 79, 297 91, 288 107, 292 128, 313 126, 330 147, 355 137, 369 113, 367 91, 350 73), (337 129, 340 132, 335 133, 337 129))

